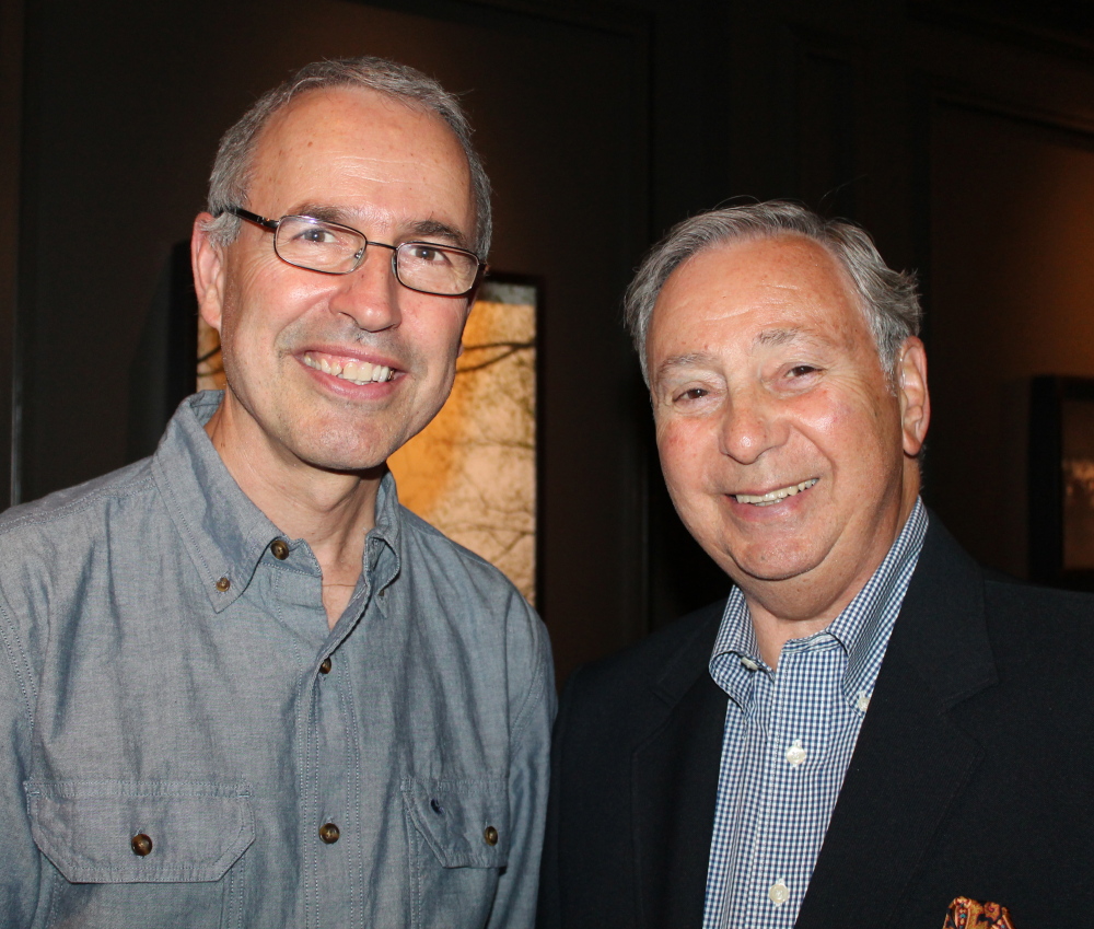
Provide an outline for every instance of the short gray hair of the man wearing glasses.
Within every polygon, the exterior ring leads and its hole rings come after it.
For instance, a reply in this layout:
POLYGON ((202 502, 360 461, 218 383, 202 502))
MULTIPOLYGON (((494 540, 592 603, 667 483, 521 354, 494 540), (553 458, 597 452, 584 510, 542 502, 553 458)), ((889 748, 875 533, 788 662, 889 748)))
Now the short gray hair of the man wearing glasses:
POLYGON ((475 251, 486 259, 490 251, 490 181, 482 161, 472 146, 472 127, 459 101, 432 78, 396 61, 362 56, 315 61, 305 65, 289 80, 267 91, 220 140, 217 160, 209 176, 207 209, 216 217, 206 229, 218 245, 229 245, 240 233, 240 219, 224 212, 244 206, 254 175, 258 139, 270 119, 300 93, 324 88, 363 88, 376 91, 421 113, 434 113, 455 133, 472 175, 475 194, 475 251))

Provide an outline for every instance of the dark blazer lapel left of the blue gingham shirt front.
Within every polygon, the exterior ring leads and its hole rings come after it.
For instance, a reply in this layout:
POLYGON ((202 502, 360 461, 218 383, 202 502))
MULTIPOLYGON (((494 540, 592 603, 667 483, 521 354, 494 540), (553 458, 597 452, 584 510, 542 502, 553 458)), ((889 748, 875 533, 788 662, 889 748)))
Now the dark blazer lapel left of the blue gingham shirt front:
POLYGON ((650 929, 702 924, 726 696, 708 672, 724 601, 654 687, 664 712, 631 757, 638 913, 650 929))

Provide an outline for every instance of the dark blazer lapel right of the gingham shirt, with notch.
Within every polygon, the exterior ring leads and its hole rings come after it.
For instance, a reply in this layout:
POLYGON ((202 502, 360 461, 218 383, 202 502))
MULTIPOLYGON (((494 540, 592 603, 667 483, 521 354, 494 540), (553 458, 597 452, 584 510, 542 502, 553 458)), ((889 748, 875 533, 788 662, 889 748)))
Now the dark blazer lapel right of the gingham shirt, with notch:
POLYGON ((864 929, 893 918, 981 760, 950 710, 994 682, 982 574, 932 515, 798 929, 864 929))

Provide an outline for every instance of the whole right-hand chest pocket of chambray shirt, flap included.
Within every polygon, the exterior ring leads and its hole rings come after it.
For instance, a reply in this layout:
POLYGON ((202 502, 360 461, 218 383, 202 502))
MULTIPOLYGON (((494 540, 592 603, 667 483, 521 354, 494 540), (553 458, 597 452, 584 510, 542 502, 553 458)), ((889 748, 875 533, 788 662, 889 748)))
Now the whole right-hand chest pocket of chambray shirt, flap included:
POLYGON ((444 925, 453 899, 462 925, 485 925, 509 860, 507 782, 406 778, 403 801, 414 869, 410 925, 444 925))

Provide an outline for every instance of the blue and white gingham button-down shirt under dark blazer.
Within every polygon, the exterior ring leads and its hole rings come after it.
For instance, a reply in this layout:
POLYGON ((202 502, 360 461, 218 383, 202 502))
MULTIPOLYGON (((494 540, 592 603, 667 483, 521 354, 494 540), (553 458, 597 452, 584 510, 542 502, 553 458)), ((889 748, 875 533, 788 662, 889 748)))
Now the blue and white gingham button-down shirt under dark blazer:
POLYGON ((759 657, 734 588, 710 659, 730 700, 703 929, 791 929, 927 532, 921 500, 828 628, 759 657))

